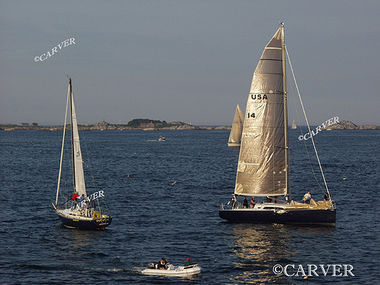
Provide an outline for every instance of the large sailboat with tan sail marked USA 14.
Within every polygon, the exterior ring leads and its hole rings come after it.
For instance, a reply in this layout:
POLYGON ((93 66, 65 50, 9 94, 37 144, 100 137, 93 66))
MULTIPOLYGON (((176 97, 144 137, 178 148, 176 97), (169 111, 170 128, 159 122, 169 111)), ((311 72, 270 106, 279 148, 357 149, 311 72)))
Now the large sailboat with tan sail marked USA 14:
MULTIPOLYGON (((232 203, 221 205, 219 216, 229 222, 335 224, 336 206, 331 199, 314 140, 326 189, 325 199, 316 202, 307 197, 304 203, 291 201, 285 53, 294 77, 284 41, 284 24, 281 23, 265 46, 253 74, 233 199, 232 203), (245 197, 242 206, 238 196, 245 197), (250 207, 246 202, 248 196, 253 198, 250 207), (256 203, 255 197, 267 198, 256 203)), ((297 84, 296 87, 304 110, 297 84)), ((305 111, 304 115, 310 130, 305 111)))

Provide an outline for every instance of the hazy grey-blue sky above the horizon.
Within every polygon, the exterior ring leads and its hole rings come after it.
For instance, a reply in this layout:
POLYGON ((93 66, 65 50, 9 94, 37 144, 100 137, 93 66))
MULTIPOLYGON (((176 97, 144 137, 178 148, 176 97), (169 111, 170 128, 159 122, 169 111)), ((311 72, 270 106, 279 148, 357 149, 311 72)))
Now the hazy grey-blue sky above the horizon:
POLYGON ((379 15, 378 0, 0 1, 0 124, 62 124, 68 76, 82 124, 231 124, 283 21, 309 121, 380 125, 379 15))

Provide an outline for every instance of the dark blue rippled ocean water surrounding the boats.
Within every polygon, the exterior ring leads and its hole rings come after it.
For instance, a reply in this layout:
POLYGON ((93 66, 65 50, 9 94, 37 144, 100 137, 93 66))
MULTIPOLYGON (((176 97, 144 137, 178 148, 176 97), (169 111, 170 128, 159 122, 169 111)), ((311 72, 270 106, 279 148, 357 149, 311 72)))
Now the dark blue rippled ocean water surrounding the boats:
MULTIPOLYGON (((61 132, 0 132, 0 284, 380 284, 379 131, 315 137, 337 204, 335 227, 221 220, 238 158, 228 134, 81 132, 88 191, 105 190, 113 222, 105 231, 79 231, 63 228, 51 206, 61 132), (159 135, 167 141, 154 141, 159 135), (175 265, 190 257, 202 273, 139 273, 162 256, 175 265), (351 264, 355 276, 277 276, 276 264, 351 264)), ((290 131, 292 198, 311 189, 320 199, 310 142, 309 159, 298 135, 290 131)))

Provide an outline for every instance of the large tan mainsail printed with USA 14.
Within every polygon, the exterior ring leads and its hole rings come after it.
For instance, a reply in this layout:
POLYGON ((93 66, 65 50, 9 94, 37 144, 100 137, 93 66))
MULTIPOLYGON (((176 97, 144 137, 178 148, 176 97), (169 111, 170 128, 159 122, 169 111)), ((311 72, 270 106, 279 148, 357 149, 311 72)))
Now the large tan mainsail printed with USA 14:
POLYGON ((245 111, 235 194, 287 195, 284 121, 284 27, 266 45, 245 111))

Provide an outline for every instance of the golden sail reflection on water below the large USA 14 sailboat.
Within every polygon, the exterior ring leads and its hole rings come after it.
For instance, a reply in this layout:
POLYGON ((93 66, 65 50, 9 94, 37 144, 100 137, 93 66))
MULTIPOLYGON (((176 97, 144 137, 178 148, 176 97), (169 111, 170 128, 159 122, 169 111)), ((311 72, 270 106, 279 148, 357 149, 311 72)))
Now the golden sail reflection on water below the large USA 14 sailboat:
POLYGON ((292 245, 295 239, 326 235, 334 227, 291 226, 281 224, 233 224, 235 255, 233 262, 237 273, 231 283, 287 283, 286 276, 273 273, 275 264, 291 263, 297 252, 292 245))

